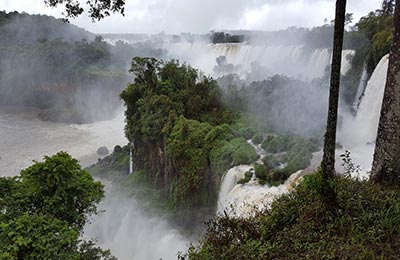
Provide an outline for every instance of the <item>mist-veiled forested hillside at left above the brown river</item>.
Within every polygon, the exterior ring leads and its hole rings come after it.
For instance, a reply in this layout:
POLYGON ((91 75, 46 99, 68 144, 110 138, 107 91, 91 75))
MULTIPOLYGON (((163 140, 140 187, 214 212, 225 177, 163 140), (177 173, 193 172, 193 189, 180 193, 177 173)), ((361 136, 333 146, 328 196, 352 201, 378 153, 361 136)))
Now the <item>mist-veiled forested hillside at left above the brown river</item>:
POLYGON ((43 120, 113 118, 132 78, 131 58, 163 55, 143 43, 110 45, 49 16, 2 12, 1 17, 0 105, 38 108, 43 120))

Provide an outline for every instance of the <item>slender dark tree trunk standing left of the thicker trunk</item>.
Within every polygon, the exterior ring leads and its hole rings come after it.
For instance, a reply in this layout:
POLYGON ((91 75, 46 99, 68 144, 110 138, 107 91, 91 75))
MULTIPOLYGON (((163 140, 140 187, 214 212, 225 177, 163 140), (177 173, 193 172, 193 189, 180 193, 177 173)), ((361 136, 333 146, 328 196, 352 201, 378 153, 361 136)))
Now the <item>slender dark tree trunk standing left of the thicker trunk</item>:
POLYGON ((336 148, 336 126, 339 103, 340 67, 342 62, 344 22, 346 15, 346 0, 336 1, 335 28, 333 35, 331 82, 329 89, 328 121, 325 132, 324 155, 321 169, 324 193, 328 197, 333 196, 333 190, 329 187, 329 181, 335 174, 335 148, 336 148))

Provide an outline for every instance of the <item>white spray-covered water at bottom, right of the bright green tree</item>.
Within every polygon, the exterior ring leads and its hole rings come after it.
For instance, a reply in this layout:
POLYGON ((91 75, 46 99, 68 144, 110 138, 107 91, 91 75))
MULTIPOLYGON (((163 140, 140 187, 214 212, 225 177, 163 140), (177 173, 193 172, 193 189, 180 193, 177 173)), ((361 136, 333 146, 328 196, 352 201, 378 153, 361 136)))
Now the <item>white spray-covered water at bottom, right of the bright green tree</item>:
POLYGON ((85 237, 95 237, 119 260, 172 260, 187 249, 178 231, 145 212, 133 198, 108 191, 99 208, 106 211, 85 228, 85 237))

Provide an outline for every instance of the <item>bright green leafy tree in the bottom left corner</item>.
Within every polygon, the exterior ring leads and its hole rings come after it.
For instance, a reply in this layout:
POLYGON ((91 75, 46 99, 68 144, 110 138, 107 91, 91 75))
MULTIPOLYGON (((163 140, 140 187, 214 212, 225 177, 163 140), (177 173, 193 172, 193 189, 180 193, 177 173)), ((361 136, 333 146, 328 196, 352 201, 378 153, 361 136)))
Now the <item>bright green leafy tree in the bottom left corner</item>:
POLYGON ((0 259, 115 259, 80 238, 103 185, 65 152, 0 178, 0 259))

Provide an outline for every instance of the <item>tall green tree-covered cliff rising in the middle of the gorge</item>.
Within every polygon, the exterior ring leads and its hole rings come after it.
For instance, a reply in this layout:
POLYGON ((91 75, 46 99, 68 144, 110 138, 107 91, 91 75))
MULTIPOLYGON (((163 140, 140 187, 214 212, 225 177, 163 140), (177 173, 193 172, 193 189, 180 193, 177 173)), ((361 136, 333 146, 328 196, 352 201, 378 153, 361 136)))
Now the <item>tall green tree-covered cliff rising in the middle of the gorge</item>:
POLYGON ((121 94, 133 171, 144 171, 174 209, 215 207, 220 172, 211 167, 231 113, 217 84, 189 66, 135 58, 134 83, 121 94))

